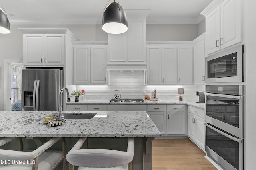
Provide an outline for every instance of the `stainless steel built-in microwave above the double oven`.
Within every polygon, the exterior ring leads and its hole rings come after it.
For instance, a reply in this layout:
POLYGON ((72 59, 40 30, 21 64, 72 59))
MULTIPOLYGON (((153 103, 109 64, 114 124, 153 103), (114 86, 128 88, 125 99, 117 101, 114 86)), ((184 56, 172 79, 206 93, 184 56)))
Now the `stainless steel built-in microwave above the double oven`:
POLYGON ((244 45, 232 47, 206 57, 206 83, 243 82, 244 45))

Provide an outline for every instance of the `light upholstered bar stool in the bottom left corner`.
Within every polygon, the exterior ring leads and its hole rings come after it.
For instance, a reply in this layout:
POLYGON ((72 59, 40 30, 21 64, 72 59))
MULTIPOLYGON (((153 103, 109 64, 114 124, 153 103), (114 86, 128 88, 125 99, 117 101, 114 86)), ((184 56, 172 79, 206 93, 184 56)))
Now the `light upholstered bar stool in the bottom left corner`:
MULTIPOLYGON (((14 137, 6 137, 0 140, 0 146, 16 139, 14 137)), ((23 150, 21 138, 18 139, 20 150, 23 150)), ((65 138, 55 137, 32 151, 16 151, 0 149, 0 170, 53 170, 61 162, 63 170, 66 170, 66 142, 65 138), (54 143, 62 139, 61 150, 47 150, 54 143), (24 163, 23 163, 24 162, 24 163), (13 164, 16 163, 16 164, 13 164)))

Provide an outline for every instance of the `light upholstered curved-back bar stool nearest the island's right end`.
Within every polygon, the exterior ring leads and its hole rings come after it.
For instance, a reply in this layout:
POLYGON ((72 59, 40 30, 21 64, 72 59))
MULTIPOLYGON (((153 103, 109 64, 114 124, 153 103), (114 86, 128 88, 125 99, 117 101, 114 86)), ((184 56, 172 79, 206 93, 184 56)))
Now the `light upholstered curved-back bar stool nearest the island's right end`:
POLYGON ((134 138, 128 138, 127 152, 110 149, 80 149, 87 138, 80 138, 67 154, 70 170, 132 170, 134 138))

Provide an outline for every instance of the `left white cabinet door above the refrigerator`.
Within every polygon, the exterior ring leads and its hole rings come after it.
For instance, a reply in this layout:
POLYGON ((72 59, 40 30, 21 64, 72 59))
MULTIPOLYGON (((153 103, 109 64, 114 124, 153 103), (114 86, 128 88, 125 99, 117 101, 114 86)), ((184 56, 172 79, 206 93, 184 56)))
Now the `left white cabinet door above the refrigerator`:
POLYGON ((43 65, 44 60, 44 35, 23 35, 24 65, 43 65))

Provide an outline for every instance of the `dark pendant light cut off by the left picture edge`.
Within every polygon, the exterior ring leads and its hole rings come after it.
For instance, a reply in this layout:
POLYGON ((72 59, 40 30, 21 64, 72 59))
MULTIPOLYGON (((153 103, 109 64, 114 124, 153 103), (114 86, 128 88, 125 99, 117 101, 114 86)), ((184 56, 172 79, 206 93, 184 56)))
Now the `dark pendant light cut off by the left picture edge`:
POLYGON ((8 34, 10 33, 10 23, 4 7, 0 4, 0 33, 8 34))

